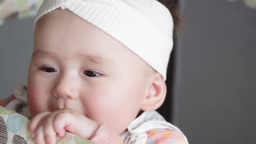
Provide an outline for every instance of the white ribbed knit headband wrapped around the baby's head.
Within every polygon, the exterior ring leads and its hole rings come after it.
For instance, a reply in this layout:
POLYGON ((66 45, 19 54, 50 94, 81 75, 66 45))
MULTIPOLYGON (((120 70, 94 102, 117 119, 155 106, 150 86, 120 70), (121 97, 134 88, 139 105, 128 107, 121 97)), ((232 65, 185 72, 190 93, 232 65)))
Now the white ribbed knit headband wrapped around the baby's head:
POLYGON ((60 7, 117 39, 166 80, 173 19, 164 5, 156 0, 45 0, 35 22, 60 7))

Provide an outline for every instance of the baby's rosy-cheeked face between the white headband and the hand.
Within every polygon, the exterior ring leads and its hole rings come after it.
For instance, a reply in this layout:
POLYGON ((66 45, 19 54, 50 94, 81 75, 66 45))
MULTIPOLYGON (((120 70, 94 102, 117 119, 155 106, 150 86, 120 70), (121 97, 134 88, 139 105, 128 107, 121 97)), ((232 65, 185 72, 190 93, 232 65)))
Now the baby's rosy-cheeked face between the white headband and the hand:
POLYGON ((148 64, 68 10, 39 19, 28 74, 32 116, 71 108, 121 133, 136 117, 148 64))

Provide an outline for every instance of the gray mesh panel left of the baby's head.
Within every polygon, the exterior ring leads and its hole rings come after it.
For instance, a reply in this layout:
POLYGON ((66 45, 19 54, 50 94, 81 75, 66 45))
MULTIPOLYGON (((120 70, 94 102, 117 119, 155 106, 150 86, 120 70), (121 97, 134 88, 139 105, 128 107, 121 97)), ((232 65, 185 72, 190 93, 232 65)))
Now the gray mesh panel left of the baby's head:
POLYGON ((0 26, 0 98, 8 97, 18 84, 27 83, 33 50, 33 17, 0 26))

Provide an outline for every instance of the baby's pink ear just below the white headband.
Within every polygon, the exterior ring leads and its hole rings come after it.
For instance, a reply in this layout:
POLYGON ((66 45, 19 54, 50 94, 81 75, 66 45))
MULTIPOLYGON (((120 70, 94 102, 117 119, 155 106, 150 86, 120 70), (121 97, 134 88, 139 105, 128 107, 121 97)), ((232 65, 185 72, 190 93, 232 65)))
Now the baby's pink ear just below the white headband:
POLYGON ((162 103, 164 103, 166 96, 166 84, 164 78, 157 72, 155 72, 151 77, 144 98, 141 110, 143 111, 153 111, 158 109, 162 103))

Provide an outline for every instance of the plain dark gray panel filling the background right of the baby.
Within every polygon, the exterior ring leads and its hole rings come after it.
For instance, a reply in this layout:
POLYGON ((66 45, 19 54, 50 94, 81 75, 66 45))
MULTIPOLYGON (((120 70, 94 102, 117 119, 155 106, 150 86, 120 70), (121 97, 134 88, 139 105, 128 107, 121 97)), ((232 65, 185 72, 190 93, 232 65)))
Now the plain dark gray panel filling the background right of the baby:
POLYGON ((256 10, 182 1, 172 122, 190 143, 256 143, 256 10))

